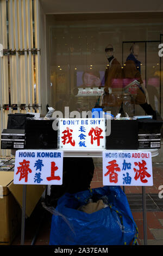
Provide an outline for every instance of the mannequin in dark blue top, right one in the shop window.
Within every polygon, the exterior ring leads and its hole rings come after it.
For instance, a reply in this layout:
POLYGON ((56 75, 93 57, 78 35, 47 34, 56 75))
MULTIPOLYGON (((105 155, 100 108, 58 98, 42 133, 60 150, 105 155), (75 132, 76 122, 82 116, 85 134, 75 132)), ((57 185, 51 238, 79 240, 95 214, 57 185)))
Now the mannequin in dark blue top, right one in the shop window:
POLYGON ((140 83, 136 88, 136 95, 132 97, 132 103, 140 105, 147 114, 153 115, 155 119, 156 112, 149 105, 149 96, 141 78, 141 62, 137 59, 138 57, 139 45, 131 45, 130 54, 123 68, 123 77, 131 80, 135 79, 140 83))

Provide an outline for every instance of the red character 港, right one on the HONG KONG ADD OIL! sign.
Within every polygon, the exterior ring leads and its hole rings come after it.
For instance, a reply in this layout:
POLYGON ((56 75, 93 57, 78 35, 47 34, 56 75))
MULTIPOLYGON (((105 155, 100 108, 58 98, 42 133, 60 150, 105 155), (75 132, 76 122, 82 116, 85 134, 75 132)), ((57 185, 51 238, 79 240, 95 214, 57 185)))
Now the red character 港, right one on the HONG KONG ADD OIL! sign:
POLYGON ((136 173, 134 179, 137 180, 140 178, 142 183, 147 183, 148 180, 146 180, 145 178, 151 177, 151 174, 146 172, 146 170, 147 170, 147 167, 145 167, 146 161, 142 160, 142 163, 134 162, 134 164, 135 164, 135 166, 139 167, 139 169, 134 168, 134 172, 136 173))

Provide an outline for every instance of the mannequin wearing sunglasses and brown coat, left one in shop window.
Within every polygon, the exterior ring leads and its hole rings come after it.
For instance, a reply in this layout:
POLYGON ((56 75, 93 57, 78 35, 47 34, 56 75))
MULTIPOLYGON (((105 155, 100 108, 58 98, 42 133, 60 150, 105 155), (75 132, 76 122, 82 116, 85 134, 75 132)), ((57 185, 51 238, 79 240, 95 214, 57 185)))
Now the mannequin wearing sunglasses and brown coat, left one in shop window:
POLYGON ((105 71, 104 94, 101 97, 101 106, 104 111, 111 111, 117 114, 121 106, 122 95, 122 67, 114 57, 114 47, 109 44, 105 47, 105 56, 109 65, 105 71))

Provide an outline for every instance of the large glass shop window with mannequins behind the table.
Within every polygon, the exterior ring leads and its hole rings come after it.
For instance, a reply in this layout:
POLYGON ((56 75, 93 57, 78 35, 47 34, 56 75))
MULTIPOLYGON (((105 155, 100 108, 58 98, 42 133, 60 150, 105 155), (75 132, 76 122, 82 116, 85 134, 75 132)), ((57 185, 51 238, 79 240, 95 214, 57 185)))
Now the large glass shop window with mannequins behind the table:
POLYGON ((148 15, 141 19, 134 14, 46 17, 49 105, 61 111, 69 106, 70 111, 79 112, 103 105, 114 115, 120 111, 129 115, 161 112, 162 68, 158 46, 163 19, 151 19, 148 15), (137 73, 130 75, 133 63, 140 79, 137 73), (134 86, 128 86, 135 79, 142 84, 136 91, 134 86), (124 90, 126 86, 128 90, 124 90), (137 96, 132 95, 134 92, 137 96), (107 93, 109 96, 104 99, 107 93), (145 106, 147 102, 150 107, 145 106))

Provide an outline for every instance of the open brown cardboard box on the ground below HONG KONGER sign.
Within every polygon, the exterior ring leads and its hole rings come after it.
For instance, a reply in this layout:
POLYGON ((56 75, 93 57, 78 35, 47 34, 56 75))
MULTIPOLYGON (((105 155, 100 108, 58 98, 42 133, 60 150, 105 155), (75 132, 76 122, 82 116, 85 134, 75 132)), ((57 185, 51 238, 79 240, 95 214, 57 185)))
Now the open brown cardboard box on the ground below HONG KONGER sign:
MULTIPOLYGON (((0 245, 10 245, 21 227, 23 185, 14 172, 0 172, 0 245)), ((27 185, 26 217, 30 217, 46 186, 27 185)))

